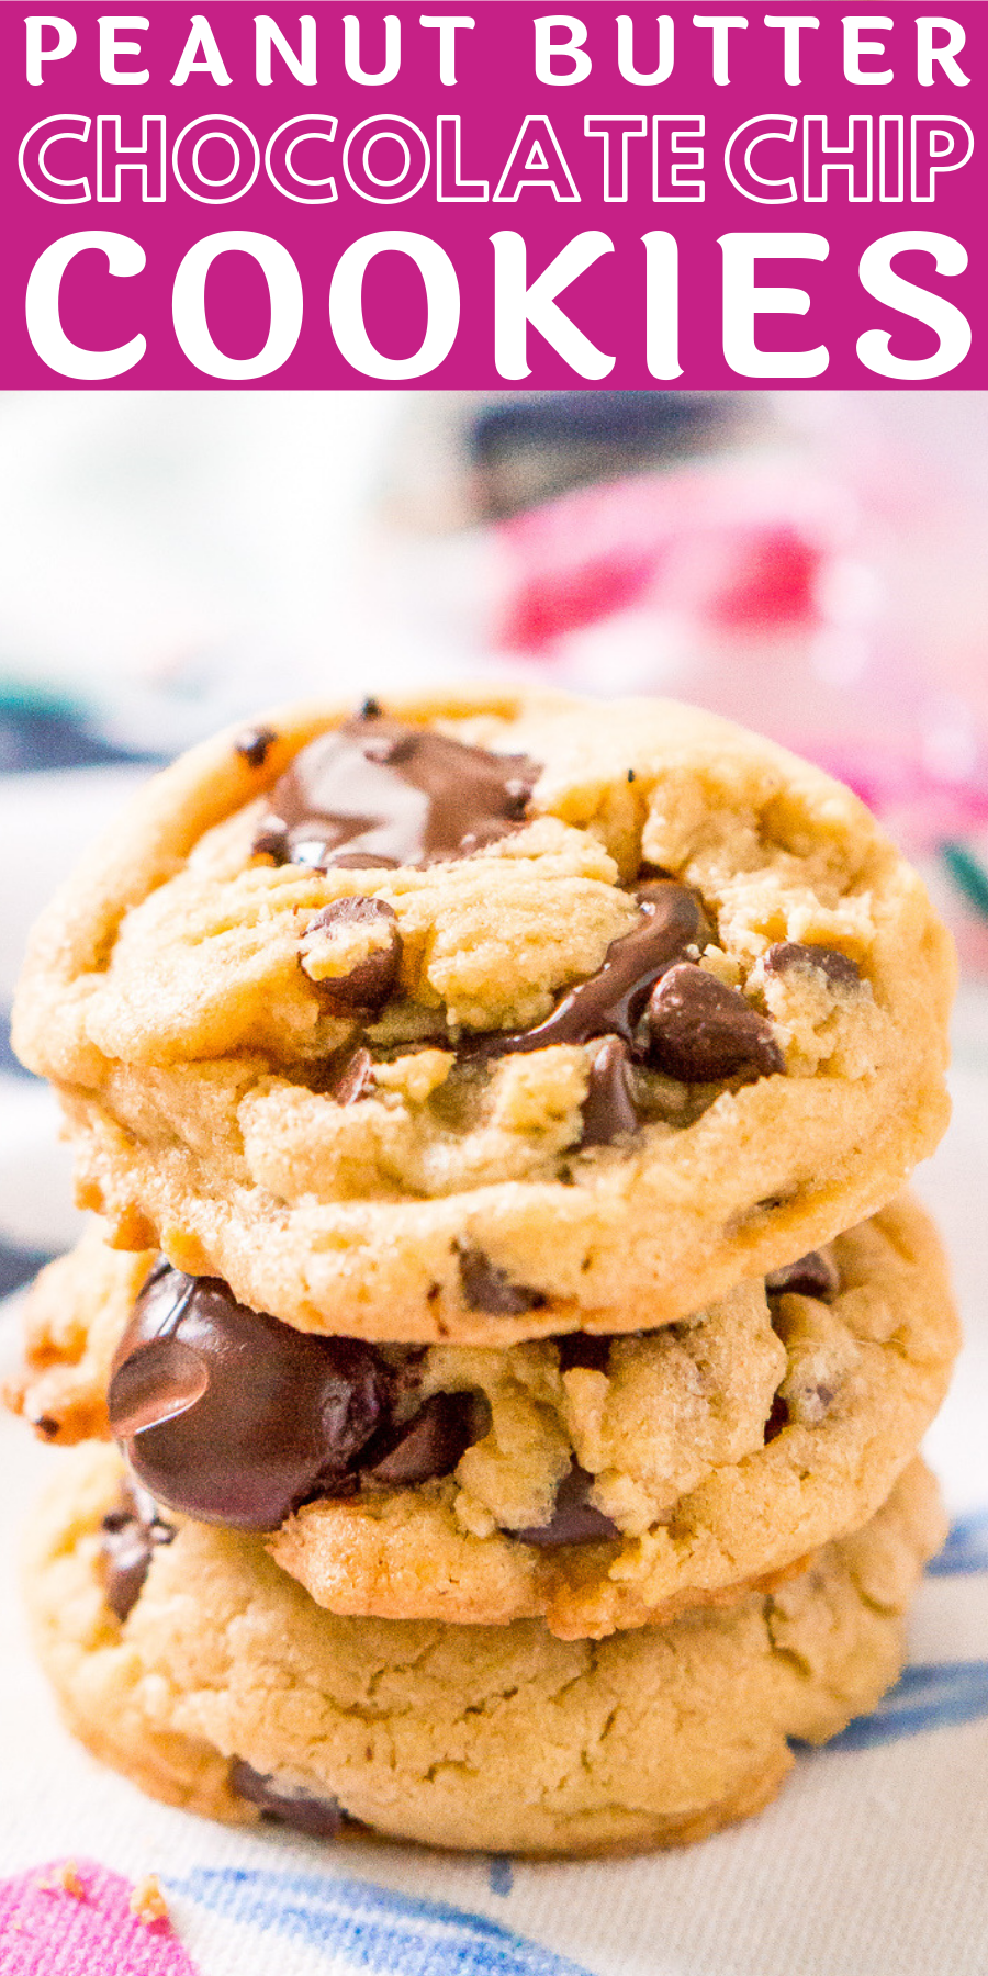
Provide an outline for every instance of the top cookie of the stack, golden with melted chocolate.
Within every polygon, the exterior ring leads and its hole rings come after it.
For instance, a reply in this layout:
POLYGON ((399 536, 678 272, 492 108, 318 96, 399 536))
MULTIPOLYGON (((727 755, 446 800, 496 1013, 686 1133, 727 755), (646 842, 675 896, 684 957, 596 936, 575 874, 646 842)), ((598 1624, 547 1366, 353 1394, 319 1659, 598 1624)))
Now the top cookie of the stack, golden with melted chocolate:
POLYGON ((308 1330, 674 1322, 947 1122, 948 935, 838 782, 670 701, 304 705, 43 913, 16 1047, 121 1247, 308 1330))

